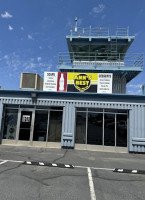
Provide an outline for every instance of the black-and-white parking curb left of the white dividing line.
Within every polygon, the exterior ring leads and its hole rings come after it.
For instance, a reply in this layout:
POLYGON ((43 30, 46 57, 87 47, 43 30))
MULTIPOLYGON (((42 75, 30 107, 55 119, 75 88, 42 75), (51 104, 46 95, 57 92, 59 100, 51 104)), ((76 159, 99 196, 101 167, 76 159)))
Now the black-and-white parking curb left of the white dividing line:
POLYGON ((74 169, 73 165, 65 165, 65 164, 61 164, 61 163, 45 163, 45 162, 25 161, 22 164, 24 164, 24 165, 35 165, 35 166, 45 166, 45 167, 58 167, 58 168, 74 169))

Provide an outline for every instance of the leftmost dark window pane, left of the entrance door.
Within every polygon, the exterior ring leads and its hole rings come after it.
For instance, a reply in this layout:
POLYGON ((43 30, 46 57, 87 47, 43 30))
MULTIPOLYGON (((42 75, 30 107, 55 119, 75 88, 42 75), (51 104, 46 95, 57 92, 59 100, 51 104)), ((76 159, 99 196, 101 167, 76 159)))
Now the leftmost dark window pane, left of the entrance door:
POLYGON ((6 109, 4 118, 3 139, 16 139, 18 110, 6 109))

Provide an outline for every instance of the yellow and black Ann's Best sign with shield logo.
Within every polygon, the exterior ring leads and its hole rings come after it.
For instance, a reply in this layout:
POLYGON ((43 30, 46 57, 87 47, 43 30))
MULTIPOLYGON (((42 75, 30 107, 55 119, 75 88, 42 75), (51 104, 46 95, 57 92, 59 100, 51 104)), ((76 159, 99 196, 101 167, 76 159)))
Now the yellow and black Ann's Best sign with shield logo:
POLYGON ((97 73, 68 73, 68 92, 97 92, 97 84, 97 73))

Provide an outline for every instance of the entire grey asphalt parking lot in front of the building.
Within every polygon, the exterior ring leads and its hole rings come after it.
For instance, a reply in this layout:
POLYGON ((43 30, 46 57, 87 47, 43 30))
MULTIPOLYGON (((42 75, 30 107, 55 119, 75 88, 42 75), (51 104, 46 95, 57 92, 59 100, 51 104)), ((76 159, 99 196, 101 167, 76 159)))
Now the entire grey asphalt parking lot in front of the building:
POLYGON ((0 146, 0 200, 144 200, 144 171, 144 154, 0 146))

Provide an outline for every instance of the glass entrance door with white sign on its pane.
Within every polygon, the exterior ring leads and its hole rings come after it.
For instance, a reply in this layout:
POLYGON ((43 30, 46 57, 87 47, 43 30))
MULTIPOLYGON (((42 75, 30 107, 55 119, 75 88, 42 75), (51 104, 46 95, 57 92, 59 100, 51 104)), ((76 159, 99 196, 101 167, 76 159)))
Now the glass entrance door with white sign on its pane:
POLYGON ((24 144, 32 144, 33 124, 34 124, 34 110, 20 109, 18 143, 20 141, 25 141, 24 144))

